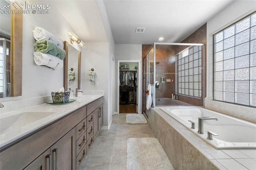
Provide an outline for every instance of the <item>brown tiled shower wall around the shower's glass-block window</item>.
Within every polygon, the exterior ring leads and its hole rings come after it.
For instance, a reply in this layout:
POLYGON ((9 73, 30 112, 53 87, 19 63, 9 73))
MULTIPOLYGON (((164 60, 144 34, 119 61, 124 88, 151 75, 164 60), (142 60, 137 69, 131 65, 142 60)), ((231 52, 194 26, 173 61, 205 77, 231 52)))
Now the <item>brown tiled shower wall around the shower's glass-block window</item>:
MULTIPOLYGON (((198 30, 196 30, 194 33, 192 33, 190 36, 188 36, 185 40, 183 40, 181 43, 204 43, 204 55, 206 56, 206 24, 201 26, 198 30)), ((168 45, 169 46, 169 45, 168 45)), ((147 51, 149 46, 147 45, 142 45, 142 51, 147 51)), ((173 47, 173 45, 169 46, 173 47)), ((181 46, 179 46, 181 47, 181 46)), ((187 46, 184 46, 186 48, 187 46)), ((175 93, 175 57, 174 55, 177 54, 178 52, 182 51, 183 49, 172 49, 172 48, 166 48, 166 45, 157 45, 156 46, 156 61, 159 61, 159 64, 156 64, 156 81, 159 81, 159 88, 156 89, 156 98, 171 98, 172 93, 175 93), (162 74, 164 73, 164 74, 162 74), (167 73, 167 74, 165 74, 167 73), (168 74, 170 73, 170 74, 168 74), (165 83, 160 83, 160 77, 165 77, 165 83), (173 83, 168 83, 166 82, 166 79, 173 79, 173 83)), ((142 61, 143 61, 144 56, 142 56, 142 61)), ((205 63, 206 67, 206 59, 202 63, 205 63)), ((206 92, 206 68, 204 67, 204 77, 205 79, 205 85, 202 84, 201 89, 204 89, 206 92)), ((143 73, 142 73, 143 74, 143 73)), ((203 74, 202 74, 203 76, 203 74)), ((144 91, 144 90, 143 90, 144 91)), ((202 93, 203 94, 203 93, 202 93)), ((203 106, 203 96, 200 99, 197 98, 192 98, 192 97, 187 97, 183 95, 179 95, 179 100, 189 103, 191 105, 196 105, 196 106, 203 106)))

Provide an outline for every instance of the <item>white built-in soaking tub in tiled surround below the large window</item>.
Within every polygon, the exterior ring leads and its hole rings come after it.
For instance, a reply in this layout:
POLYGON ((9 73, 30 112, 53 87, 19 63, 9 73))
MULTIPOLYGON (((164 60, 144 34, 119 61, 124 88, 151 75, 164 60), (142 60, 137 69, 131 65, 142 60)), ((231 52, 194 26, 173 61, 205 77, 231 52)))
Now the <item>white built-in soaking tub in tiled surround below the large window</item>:
POLYGON ((176 121, 194 132, 200 138, 214 146, 216 149, 255 149, 256 148, 256 124, 236 119, 221 113, 210 111, 202 107, 194 108, 161 108, 176 121), (198 117, 216 117, 215 120, 204 120, 204 134, 199 134, 198 117), (195 129, 191 128, 193 121, 195 129), (207 139, 207 131, 212 131, 218 136, 213 140, 207 139))

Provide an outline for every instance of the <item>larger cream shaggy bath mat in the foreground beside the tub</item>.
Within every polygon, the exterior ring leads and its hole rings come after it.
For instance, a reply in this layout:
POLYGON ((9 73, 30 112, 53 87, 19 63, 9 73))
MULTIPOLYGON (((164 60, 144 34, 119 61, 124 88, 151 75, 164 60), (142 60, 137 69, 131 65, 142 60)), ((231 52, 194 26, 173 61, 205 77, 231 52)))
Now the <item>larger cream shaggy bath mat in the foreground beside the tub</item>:
POLYGON ((156 138, 129 138, 126 152, 126 170, 174 170, 156 138))

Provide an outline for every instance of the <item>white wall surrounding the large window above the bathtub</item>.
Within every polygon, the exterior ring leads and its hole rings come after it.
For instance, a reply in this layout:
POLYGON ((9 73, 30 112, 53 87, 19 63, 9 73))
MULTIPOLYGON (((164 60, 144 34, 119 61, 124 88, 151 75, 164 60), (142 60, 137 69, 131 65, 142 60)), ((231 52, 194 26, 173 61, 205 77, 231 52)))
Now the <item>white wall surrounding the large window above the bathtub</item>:
POLYGON ((225 10, 207 22, 207 97, 205 107, 234 117, 256 122, 256 109, 213 101, 213 34, 244 18, 256 10, 255 0, 234 1, 225 10))

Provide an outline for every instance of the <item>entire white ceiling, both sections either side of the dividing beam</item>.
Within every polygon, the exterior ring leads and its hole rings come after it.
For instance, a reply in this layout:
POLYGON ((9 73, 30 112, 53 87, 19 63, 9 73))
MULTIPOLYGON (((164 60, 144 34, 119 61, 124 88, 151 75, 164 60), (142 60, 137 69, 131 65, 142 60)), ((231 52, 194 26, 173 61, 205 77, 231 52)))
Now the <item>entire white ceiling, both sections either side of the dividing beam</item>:
POLYGON ((108 42, 102 15, 108 17, 116 44, 181 42, 233 0, 54 0, 77 36, 84 42, 108 42), (145 28, 136 33, 136 27, 145 28))

